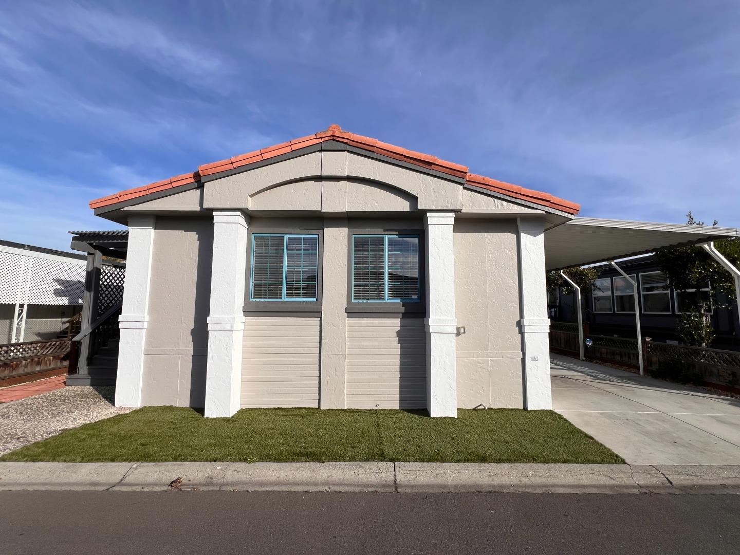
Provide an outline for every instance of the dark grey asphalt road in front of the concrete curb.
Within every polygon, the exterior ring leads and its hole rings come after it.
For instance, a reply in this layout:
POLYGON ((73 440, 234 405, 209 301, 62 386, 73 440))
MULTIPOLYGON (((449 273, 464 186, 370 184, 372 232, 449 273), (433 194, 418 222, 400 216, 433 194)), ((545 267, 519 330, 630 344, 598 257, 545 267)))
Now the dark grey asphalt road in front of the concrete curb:
POLYGON ((740 496, 0 492, 10 554, 738 554, 740 496))

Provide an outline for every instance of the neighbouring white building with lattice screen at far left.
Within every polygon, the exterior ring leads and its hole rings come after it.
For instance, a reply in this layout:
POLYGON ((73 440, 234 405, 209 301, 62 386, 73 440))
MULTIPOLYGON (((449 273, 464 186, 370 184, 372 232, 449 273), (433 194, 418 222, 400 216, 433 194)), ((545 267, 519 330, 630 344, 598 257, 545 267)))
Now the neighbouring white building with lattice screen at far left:
POLYGON ((81 311, 84 256, 0 240, 0 344, 50 340, 81 311))

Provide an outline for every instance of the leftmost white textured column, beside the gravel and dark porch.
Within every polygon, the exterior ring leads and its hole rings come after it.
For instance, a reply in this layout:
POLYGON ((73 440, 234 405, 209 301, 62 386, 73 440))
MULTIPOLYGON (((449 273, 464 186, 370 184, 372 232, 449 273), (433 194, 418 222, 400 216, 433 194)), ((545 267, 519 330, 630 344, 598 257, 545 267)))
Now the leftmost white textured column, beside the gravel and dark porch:
POLYGON ((149 322, 149 281, 152 275, 155 217, 129 216, 129 242, 115 379, 115 406, 141 406, 144 340, 149 322))

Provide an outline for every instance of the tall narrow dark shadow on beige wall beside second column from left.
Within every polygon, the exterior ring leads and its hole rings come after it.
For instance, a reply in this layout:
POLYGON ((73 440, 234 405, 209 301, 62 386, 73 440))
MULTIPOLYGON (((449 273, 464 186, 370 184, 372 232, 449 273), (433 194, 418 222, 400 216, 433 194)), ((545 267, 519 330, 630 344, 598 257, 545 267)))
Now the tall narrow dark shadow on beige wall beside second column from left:
MULTIPOLYGON (((208 222, 210 223, 210 221, 208 222)), ((190 399, 189 405, 203 408, 206 405, 206 362, 208 352, 208 314, 211 303, 211 262, 213 258, 213 226, 203 226, 196 233, 198 260, 195 272, 195 305, 193 308, 193 322, 195 326, 190 330, 192 337, 191 368, 190 368, 190 399)))

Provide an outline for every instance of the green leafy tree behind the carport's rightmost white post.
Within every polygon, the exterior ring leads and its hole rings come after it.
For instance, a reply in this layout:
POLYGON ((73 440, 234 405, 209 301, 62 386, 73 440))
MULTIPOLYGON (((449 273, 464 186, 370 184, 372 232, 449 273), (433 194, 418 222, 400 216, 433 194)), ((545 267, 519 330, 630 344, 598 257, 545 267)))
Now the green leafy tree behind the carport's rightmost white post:
MULTIPOLYGON (((703 221, 696 221, 693 214, 686 215, 687 222, 693 226, 703 226, 703 221)), ((717 225, 715 220, 713 226, 717 225)), ((740 240, 721 239, 715 241, 719 252, 735 266, 740 265, 740 240)), ((713 329, 705 314, 708 306, 702 299, 703 287, 710 288, 710 298, 716 292, 722 292, 732 300, 735 298, 735 283, 730 272, 727 272, 716 260, 700 246, 682 246, 656 252, 656 262, 668 277, 668 283, 676 289, 682 300, 682 317, 676 330, 684 343, 695 346, 707 346, 714 337, 713 329), (693 294, 688 289, 696 289, 693 294)))

